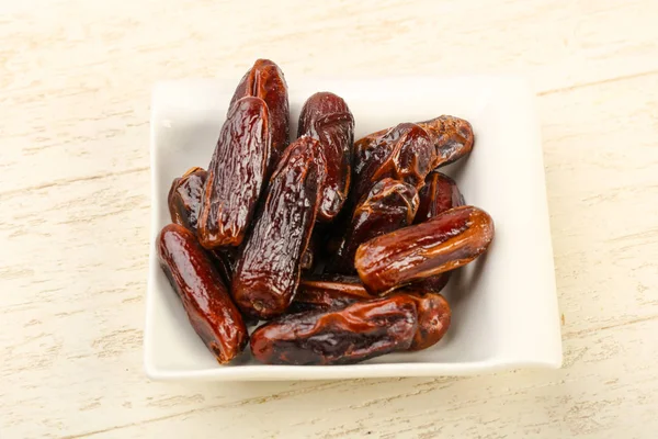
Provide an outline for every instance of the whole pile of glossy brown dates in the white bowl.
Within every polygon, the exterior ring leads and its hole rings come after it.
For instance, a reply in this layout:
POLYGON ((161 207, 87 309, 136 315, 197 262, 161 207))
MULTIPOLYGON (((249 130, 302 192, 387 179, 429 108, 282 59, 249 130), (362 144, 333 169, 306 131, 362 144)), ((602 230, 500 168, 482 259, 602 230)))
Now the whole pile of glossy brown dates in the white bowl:
POLYGON ((494 222, 436 169, 467 155, 470 124, 440 116, 354 142, 330 92, 290 143, 287 85, 259 59, 231 99, 207 169, 177 178, 161 267, 219 363, 250 344, 269 364, 349 364, 436 344, 451 270, 494 222), (264 320, 251 335, 247 327, 264 320))

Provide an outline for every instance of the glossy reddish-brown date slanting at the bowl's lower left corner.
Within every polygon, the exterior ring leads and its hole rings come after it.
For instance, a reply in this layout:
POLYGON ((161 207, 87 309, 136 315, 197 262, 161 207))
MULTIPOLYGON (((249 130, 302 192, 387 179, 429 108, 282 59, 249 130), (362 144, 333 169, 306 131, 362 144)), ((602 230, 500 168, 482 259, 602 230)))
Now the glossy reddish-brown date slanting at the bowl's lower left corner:
POLYGON ((229 362, 243 350, 249 335, 209 257, 194 234, 179 224, 162 228, 157 247, 190 324, 220 364, 229 362))

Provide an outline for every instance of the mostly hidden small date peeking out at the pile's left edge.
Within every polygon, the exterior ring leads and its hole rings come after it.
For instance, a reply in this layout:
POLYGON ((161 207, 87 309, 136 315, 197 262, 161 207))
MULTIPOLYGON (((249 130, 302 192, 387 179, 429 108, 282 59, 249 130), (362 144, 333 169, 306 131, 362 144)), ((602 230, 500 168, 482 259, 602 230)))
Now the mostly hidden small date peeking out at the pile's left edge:
POLYGON ((203 168, 190 168, 182 177, 173 179, 167 196, 171 221, 194 234, 196 234, 203 187, 207 175, 203 168))

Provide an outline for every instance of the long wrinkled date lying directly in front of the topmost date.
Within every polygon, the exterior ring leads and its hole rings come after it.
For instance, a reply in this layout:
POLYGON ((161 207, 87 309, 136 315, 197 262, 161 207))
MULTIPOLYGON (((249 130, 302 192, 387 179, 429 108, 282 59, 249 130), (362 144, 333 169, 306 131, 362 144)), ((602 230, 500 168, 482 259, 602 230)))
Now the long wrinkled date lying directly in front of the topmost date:
POLYGON ((242 98, 228 116, 204 187, 198 240, 205 248, 239 246, 266 184, 270 122, 265 102, 242 98))

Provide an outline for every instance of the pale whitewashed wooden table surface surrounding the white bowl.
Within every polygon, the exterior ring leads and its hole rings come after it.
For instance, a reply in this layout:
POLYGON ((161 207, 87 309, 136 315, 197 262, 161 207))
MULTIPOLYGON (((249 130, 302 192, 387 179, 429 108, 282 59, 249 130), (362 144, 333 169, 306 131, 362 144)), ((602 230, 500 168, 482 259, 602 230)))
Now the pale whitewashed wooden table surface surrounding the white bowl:
POLYGON ((658 3, 0 3, 0 438, 656 437, 658 3), (531 78, 563 369, 146 379, 151 86, 237 80, 257 57, 322 76, 531 78))

